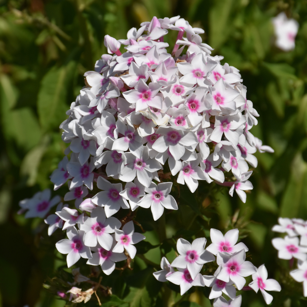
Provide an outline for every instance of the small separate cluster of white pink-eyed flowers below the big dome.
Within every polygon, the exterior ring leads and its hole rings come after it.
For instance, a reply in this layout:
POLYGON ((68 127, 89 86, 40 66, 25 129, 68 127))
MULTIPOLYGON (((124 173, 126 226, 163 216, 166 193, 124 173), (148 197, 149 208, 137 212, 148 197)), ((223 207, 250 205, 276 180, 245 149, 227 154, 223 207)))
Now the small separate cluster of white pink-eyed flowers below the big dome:
POLYGON ((273 297, 265 290, 280 291, 281 287, 276 280, 267 279, 268 274, 264 265, 257 269, 251 262, 245 261, 245 253, 248 248, 242 242, 236 244, 239 230, 232 229, 223 236, 219 230, 211 228, 210 237, 212 244, 206 249, 207 240, 205 238, 195 239, 192 244, 184 239, 178 239, 179 256, 171 264, 163 257, 162 270, 153 273, 155 278, 161 282, 168 280, 180 285, 181 295, 192 286, 212 287, 209 299, 215 299, 214 307, 239 307, 241 306, 241 295, 236 297, 236 289, 233 284, 237 290, 242 290, 246 283, 244 277, 252 275, 253 281, 249 284, 249 289, 255 290, 256 293, 260 289, 266 304, 270 304, 273 297), (219 267, 214 275, 201 275, 203 265, 215 260, 219 267), (177 271, 174 268, 177 268, 177 271), (231 300, 225 300, 222 297, 223 293, 231 300))

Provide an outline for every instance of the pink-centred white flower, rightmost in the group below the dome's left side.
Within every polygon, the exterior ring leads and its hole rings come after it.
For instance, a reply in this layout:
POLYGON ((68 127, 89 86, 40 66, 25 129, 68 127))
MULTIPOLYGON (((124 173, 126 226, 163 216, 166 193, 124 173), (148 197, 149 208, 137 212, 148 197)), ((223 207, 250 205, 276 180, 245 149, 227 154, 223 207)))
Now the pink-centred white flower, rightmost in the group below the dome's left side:
POLYGON ((146 238, 142 234, 134 232, 133 221, 130 221, 122 227, 122 230, 115 229, 115 239, 117 244, 112 251, 115 253, 122 253, 125 249, 131 259, 133 259, 136 255, 136 248, 133 244, 146 238))

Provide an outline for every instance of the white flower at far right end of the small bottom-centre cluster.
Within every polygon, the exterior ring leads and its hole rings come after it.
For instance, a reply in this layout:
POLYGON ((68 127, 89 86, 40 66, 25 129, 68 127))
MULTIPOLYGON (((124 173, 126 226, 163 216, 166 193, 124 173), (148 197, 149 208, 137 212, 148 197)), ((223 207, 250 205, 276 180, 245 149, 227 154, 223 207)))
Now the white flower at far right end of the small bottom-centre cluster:
POLYGON ((266 291, 278 291, 282 290, 280 284, 275 279, 267 279, 268 272, 264 264, 258 267, 257 272, 252 275, 253 281, 248 285, 256 293, 260 289, 266 304, 270 304, 273 301, 273 296, 266 291), (265 291, 266 290, 266 291, 265 291))

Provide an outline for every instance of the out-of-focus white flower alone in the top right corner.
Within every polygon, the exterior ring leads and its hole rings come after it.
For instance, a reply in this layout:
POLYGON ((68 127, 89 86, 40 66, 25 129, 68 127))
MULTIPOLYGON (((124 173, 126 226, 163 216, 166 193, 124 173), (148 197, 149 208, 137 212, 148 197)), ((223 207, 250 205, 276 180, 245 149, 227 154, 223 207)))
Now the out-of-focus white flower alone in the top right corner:
POLYGON ((272 19, 276 35, 276 46, 284 51, 295 48, 295 37, 298 31, 298 22, 288 19, 284 12, 279 13, 272 19))

